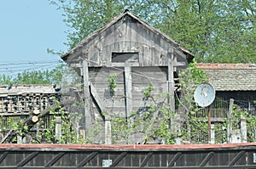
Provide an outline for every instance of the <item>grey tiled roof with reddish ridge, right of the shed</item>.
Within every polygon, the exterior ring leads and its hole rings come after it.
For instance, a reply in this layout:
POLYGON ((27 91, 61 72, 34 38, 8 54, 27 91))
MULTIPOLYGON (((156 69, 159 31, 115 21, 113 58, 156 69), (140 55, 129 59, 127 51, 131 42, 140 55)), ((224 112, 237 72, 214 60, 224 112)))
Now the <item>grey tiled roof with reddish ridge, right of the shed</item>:
POLYGON ((216 91, 256 91, 254 64, 198 64, 216 91))

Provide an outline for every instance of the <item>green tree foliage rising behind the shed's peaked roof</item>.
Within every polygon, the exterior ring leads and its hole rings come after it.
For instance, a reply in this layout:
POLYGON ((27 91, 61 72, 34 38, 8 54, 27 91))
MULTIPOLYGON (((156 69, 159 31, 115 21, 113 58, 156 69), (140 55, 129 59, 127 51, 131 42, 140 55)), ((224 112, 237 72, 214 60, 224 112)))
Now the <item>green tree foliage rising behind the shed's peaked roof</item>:
POLYGON ((198 62, 256 62, 253 0, 58 0, 70 28, 67 46, 106 24, 125 8, 191 50, 198 62))

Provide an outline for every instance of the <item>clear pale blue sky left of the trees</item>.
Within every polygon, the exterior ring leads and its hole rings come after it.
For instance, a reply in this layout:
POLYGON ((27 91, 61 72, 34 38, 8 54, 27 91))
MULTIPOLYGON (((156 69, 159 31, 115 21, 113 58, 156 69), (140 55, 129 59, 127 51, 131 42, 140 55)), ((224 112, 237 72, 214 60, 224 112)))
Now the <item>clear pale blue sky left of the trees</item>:
MULTIPOLYGON (((47 48, 67 52, 63 44, 67 40, 67 26, 61 11, 48 0, 3 0, 0 5, 0 68, 2 64, 37 65, 47 62, 49 66, 60 56, 47 53, 47 48)), ((40 67, 40 65, 37 65, 40 67)), ((52 65, 53 66, 53 65, 52 65)), ((47 66, 45 66, 47 67, 47 66)))

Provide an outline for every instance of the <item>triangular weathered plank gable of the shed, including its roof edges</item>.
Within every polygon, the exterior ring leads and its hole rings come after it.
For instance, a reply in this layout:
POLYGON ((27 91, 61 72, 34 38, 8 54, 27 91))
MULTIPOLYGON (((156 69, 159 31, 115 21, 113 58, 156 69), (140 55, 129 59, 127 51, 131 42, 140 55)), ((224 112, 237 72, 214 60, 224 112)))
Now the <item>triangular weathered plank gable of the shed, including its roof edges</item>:
POLYGON ((126 11, 62 56, 68 64, 88 59, 89 67, 166 66, 173 50, 173 66, 183 69, 193 54, 171 38, 126 11))

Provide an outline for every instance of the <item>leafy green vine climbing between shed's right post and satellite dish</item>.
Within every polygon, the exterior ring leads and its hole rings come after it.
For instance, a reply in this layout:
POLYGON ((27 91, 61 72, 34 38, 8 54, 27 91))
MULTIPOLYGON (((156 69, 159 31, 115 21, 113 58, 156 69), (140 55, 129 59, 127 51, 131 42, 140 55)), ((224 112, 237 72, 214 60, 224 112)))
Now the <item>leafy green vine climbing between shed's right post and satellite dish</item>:
POLYGON ((202 116, 203 109, 196 106, 193 96, 198 84, 208 82, 208 76, 204 70, 198 69, 196 64, 194 59, 187 70, 179 72, 179 96, 176 92, 179 102, 177 115, 181 116, 183 121, 183 140, 189 143, 207 143, 207 117, 202 116))

